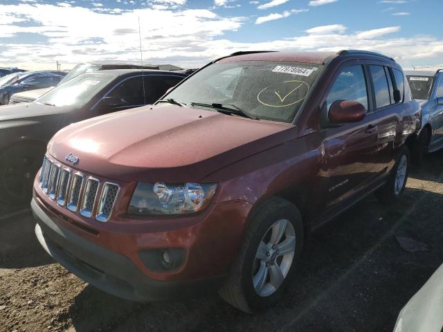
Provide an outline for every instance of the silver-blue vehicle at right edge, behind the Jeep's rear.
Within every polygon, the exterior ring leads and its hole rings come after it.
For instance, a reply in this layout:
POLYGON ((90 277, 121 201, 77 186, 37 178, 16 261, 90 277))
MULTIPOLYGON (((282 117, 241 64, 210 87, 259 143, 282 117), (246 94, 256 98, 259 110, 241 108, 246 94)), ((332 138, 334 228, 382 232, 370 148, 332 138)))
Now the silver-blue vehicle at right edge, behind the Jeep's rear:
POLYGON ((443 147, 443 71, 405 71, 412 97, 422 107, 417 161, 443 147))

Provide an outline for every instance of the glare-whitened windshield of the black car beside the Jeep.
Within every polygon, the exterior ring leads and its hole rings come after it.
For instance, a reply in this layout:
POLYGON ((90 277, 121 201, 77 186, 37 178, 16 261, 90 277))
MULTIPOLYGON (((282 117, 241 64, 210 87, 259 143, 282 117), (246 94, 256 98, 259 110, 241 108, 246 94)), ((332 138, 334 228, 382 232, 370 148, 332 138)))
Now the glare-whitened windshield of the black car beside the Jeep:
POLYGON ((35 100, 35 102, 55 106, 82 107, 89 102, 98 91, 101 91, 109 82, 114 80, 114 78, 114 75, 104 73, 83 74, 74 77, 65 84, 56 86, 35 100))

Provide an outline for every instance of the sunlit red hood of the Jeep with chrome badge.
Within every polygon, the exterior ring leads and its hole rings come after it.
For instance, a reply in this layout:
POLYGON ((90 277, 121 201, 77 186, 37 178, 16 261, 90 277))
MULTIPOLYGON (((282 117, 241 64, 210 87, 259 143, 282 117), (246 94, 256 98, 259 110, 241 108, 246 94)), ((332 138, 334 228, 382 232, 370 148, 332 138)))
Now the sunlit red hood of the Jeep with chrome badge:
POLYGON ((225 165, 281 144, 291 124, 179 106, 141 107, 65 127, 48 145, 57 160, 120 181, 199 181, 225 165))

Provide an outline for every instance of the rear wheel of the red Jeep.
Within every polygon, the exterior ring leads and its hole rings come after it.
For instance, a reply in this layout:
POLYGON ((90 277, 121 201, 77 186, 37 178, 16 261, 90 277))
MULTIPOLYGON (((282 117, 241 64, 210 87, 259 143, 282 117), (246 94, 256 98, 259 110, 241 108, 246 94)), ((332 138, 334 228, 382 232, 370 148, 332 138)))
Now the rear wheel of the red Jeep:
POLYGON ((404 192, 408 181, 410 156, 408 147, 401 147, 397 161, 392 168, 388 182, 375 192, 375 196, 383 204, 392 204, 404 192))

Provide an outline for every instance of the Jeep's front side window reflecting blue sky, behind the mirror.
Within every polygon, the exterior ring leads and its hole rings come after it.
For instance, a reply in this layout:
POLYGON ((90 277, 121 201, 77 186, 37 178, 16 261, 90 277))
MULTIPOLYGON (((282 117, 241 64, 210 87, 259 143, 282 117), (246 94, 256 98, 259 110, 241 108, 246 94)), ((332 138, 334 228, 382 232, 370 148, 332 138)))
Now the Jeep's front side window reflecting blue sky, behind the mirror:
POLYGON ((337 100, 356 100, 368 111, 368 89, 362 66, 349 66, 338 75, 326 98, 327 109, 337 100))

